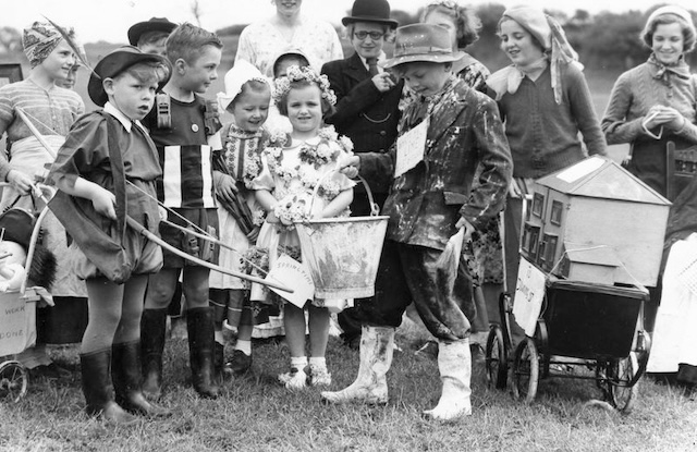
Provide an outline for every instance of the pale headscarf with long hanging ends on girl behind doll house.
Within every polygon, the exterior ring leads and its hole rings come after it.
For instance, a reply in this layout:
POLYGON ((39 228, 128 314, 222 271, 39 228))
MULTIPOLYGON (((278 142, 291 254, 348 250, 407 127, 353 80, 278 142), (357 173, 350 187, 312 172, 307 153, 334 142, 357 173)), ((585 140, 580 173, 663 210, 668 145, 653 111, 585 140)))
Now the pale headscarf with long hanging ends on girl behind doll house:
MULTIPOLYGON (((542 11, 529 7, 514 7, 503 12, 502 20, 506 17, 517 22, 537 39, 547 53, 546 59, 551 65, 552 90, 554 101, 561 103, 564 93, 562 86, 562 65, 573 64, 583 71, 584 66, 578 62, 578 53, 571 47, 566 34, 557 20, 542 11)), ((537 62, 536 68, 545 62, 537 62)), ((497 100, 505 93, 515 94, 525 73, 521 68, 511 65, 493 73, 487 81, 497 93, 497 100)))

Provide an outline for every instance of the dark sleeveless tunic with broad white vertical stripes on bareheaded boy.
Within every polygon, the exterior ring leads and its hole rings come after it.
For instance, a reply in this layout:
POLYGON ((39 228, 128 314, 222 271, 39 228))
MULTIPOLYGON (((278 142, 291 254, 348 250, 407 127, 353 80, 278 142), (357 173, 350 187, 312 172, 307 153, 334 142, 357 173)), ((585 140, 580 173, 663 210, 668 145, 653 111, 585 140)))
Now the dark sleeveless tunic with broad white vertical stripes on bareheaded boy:
MULTIPOLYGON (((206 136, 204 111, 206 101, 196 96, 193 102, 171 99, 171 129, 157 127, 157 113, 152 109, 144 120, 157 146, 162 167, 162 180, 157 193, 167 207, 216 208, 212 180, 212 152, 220 145, 212 145, 206 136)), ((220 135, 216 141, 220 143, 220 135)))

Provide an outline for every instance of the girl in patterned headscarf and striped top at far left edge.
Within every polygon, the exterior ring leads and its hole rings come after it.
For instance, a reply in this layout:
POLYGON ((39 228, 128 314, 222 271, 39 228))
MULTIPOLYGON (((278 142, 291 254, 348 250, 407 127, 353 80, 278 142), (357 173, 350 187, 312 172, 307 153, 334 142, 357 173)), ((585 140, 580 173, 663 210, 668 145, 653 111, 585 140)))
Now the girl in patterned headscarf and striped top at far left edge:
MULTIPOLYGON (((68 37, 74 40, 72 29, 68 29, 68 37)), ((7 157, 0 152, 0 181, 11 184, 2 190, 0 211, 10 206, 40 209, 42 201, 30 194, 29 188, 35 182, 35 174, 44 171, 45 163, 53 161, 17 111, 26 114, 53 152, 65 141, 71 125, 85 111, 85 105, 76 93, 60 87, 77 62, 70 42, 61 33, 49 23, 35 22, 24 29, 22 44, 32 72, 25 81, 0 88, 0 136, 7 133, 8 142, 12 143, 7 157)), ((70 271, 68 265, 65 231, 50 212, 41 228, 45 230, 44 244, 59 259, 57 279, 51 288, 58 304, 56 309, 64 304, 85 304, 85 284, 70 271)), ((34 377, 59 378, 70 375, 51 362, 46 353, 46 344, 39 343, 25 350, 19 359, 34 377)))

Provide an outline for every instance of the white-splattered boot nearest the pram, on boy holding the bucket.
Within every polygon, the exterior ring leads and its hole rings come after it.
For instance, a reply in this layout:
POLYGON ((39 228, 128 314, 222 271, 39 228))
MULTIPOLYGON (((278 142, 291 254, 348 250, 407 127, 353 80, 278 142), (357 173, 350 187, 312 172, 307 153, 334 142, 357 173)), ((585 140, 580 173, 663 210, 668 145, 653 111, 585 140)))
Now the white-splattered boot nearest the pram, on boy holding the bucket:
POLYGON ((438 341, 438 370, 443 382, 443 391, 438 405, 432 410, 426 410, 424 414, 437 420, 452 420, 460 416, 468 416, 472 414, 469 340, 438 341))

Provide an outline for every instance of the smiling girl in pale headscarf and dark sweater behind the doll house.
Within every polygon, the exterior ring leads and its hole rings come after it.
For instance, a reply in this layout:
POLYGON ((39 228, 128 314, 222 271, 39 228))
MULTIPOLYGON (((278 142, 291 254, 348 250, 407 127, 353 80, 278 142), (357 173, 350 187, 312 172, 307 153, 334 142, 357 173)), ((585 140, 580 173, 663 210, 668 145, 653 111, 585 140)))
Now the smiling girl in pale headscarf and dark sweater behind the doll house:
MULTIPOLYGON (((553 17, 529 7, 511 8, 499 21, 499 37, 512 64, 487 84, 496 91, 513 156, 503 246, 506 289, 515 293, 523 199, 533 180, 576 163, 586 152, 604 155, 606 141, 583 66, 553 17)), ((522 331, 514 337, 522 339, 522 331)))

